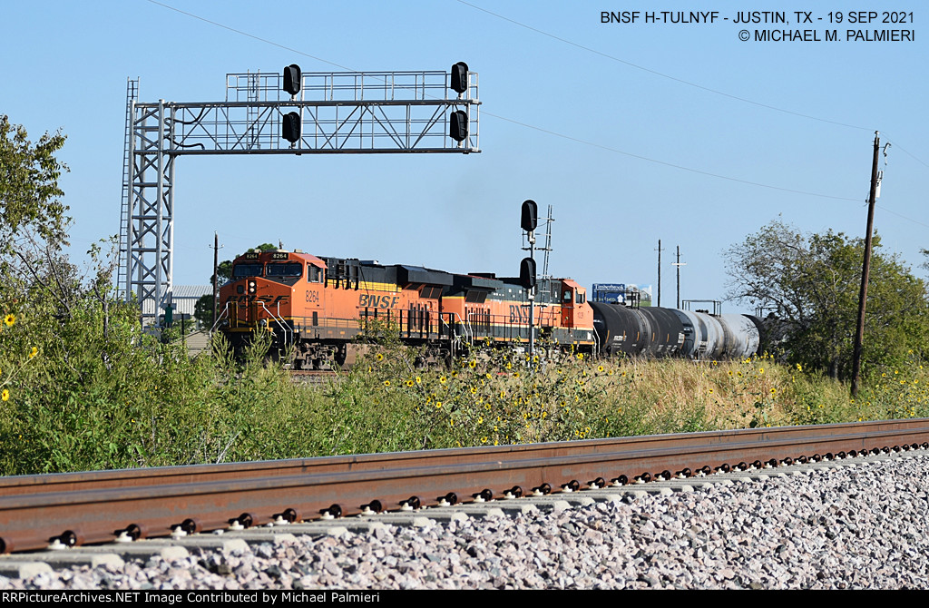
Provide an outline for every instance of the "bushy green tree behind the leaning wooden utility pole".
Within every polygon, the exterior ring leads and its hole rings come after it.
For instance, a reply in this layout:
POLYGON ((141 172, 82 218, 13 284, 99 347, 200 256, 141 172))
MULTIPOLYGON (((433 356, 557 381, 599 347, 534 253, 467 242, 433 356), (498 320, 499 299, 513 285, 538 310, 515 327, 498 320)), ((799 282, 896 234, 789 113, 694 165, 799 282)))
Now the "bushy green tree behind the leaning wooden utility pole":
MULTIPOLYGON (((803 234, 777 219, 724 253, 730 298, 773 309, 773 341, 790 363, 830 377, 851 375, 864 239, 803 234)), ((926 285, 875 235, 868 287, 864 369, 922 358, 929 337, 926 285)))

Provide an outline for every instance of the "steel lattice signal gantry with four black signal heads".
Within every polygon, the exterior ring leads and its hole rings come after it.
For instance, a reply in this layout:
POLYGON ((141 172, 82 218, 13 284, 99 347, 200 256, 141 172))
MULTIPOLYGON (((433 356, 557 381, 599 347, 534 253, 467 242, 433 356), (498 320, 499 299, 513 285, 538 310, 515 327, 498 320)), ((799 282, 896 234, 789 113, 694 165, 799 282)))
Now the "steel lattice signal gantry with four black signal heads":
POLYGON ((141 103, 130 79, 117 288, 143 324, 170 300, 177 157, 480 152, 479 105, 464 62, 448 73, 229 73, 225 101, 195 103, 141 103))

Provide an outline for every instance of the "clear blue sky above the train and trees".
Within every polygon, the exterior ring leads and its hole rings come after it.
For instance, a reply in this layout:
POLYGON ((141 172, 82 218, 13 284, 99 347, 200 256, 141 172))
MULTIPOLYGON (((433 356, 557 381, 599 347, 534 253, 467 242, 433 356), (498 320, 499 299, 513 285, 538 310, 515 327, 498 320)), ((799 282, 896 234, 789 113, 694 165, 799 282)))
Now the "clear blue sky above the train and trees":
POLYGON ((214 231, 221 259, 280 240, 322 256, 512 275, 524 256, 519 206, 531 198, 543 214, 554 205, 554 275, 656 284, 661 239, 663 305, 674 303, 677 245, 682 297, 722 299, 722 252, 774 218, 863 236, 875 130, 892 144, 875 226, 884 249, 925 276, 929 11, 901 0, 894 8, 914 23, 829 25, 828 9, 815 9, 797 24, 792 11, 814 4, 164 0, 196 19, 148 0, 7 2, 0 112, 31 139, 68 136, 62 185, 82 261, 119 231, 127 77, 140 78, 141 101, 211 101, 225 99, 226 73, 294 62, 307 73, 464 60, 479 74, 479 154, 180 159, 176 284, 208 282, 214 231), (603 9, 720 20, 607 24, 603 9), (787 12, 791 23, 769 27, 820 38, 835 28, 840 40, 742 42, 743 26, 721 18, 749 9, 787 12), (884 28, 915 40, 844 40, 847 29, 884 28))

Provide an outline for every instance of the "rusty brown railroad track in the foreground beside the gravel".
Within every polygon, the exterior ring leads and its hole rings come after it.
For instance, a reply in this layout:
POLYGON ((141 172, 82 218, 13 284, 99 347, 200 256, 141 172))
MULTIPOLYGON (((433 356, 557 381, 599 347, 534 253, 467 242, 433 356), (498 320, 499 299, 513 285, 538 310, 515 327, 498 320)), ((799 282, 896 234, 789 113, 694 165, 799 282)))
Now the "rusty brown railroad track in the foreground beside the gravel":
POLYGON ((0 552, 929 447, 929 419, 0 478, 0 552))

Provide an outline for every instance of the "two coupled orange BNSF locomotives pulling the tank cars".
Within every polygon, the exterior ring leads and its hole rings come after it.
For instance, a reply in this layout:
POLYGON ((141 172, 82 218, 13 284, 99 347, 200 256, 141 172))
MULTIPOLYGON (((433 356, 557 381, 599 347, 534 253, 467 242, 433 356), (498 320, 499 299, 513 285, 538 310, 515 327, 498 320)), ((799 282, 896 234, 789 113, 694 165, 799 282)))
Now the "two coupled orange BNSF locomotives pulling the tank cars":
MULTIPOLYGON (((517 278, 455 274, 403 264, 255 250, 232 262, 219 291, 219 329, 236 350, 267 332, 272 350, 294 351, 295 369, 352 363, 356 338, 376 324, 428 361, 451 362, 464 344, 529 343, 530 303, 517 278)), ((535 340, 595 350, 586 290, 569 279, 538 284, 535 340)))

